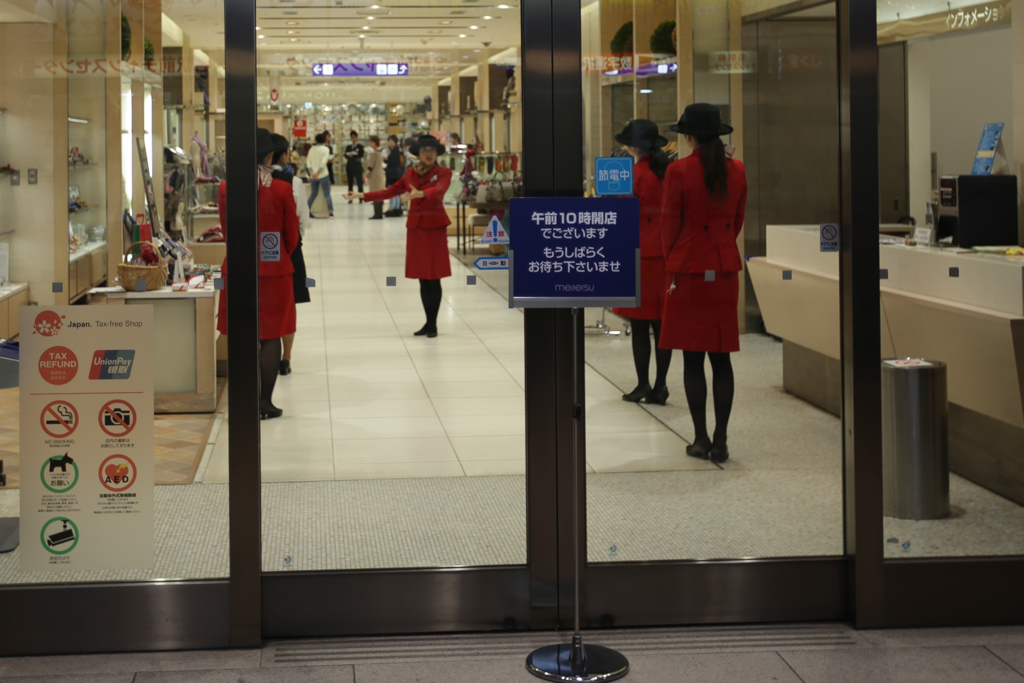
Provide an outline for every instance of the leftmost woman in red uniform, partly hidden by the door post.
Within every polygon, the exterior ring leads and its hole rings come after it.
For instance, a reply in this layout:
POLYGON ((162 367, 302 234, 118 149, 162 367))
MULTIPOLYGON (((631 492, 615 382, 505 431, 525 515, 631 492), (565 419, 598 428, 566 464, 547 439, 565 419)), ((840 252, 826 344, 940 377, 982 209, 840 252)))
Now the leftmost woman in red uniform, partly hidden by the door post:
MULTIPOLYGON (((270 163, 276 147, 270 131, 256 129, 256 160, 259 167, 259 209, 256 234, 259 240, 259 368, 260 419, 280 418, 284 411, 270 400, 281 370, 281 338, 295 333, 295 289, 292 284, 292 252, 299 246, 299 217, 295 212, 292 185, 273 177, 270 163), (275 249, 266 249, 269 245, 275 249)), ((227 236, 227 183, 220 183, 220 225, 227 236)), ((236 229, 246 226, 234 225, 236 229)), ((240 236, 245 237, 245 236, 240 236)), ((217 329, 227 334, 227 259, 221 266, 224 289, 220 293, 217 329)), ((239 294, 245 296, 245 292, 239 294)))

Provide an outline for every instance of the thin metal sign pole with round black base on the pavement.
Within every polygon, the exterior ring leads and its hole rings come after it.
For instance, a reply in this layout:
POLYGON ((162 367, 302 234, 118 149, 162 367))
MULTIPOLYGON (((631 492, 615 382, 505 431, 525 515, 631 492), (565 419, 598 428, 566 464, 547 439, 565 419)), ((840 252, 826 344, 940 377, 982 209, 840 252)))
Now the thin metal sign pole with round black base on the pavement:
POLYGON ((580 683, 615 681, 630 672, 630 663, 620 652, 602 645, 584 645, 580 633, 580 309, 572 307, 572 590, 573 631, 569 645, 547 645, 530 652, 526 669, 546 681, 580 683))

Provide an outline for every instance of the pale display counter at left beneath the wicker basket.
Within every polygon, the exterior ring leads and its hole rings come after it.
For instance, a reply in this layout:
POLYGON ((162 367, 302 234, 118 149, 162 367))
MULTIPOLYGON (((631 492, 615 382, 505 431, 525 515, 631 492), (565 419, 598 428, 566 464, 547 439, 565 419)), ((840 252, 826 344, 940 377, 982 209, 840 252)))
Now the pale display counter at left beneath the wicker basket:
POLYGON ((126 292, 120 287, 96 288, 90 303, 152 304, 156 334, 155 407, 157 413, 213 413, 217 408, 215 347, 217 297, 206 289, 173 292, 126 292))

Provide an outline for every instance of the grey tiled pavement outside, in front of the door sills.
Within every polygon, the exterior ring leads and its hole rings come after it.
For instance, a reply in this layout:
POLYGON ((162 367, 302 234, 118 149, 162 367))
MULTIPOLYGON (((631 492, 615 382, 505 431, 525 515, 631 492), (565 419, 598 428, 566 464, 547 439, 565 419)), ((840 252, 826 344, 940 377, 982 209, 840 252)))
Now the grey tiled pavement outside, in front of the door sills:
MULTIPOLYGON (((260 649, 0 657, 3 683, 529 683, 567 633, 271 641, 260 649)), ((841 624, 594 631, 630 683, 1020 683, 1024 629, 854 631, 841 624)))

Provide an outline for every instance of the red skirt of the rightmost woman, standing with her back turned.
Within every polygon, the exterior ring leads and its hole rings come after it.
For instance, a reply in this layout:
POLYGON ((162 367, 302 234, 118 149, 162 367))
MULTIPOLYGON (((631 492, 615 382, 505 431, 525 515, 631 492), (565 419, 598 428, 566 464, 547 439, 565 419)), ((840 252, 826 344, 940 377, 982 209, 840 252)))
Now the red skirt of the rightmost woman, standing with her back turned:
MULTIPOLYGON (((666 276, 666 290, 672 284, 666 276)), ((716 272, 705 281, 702 272, 677 272, 676 289, 665 297, 658 347, 684 351, 726 353, 739 350, 739 278, 716 272)))

